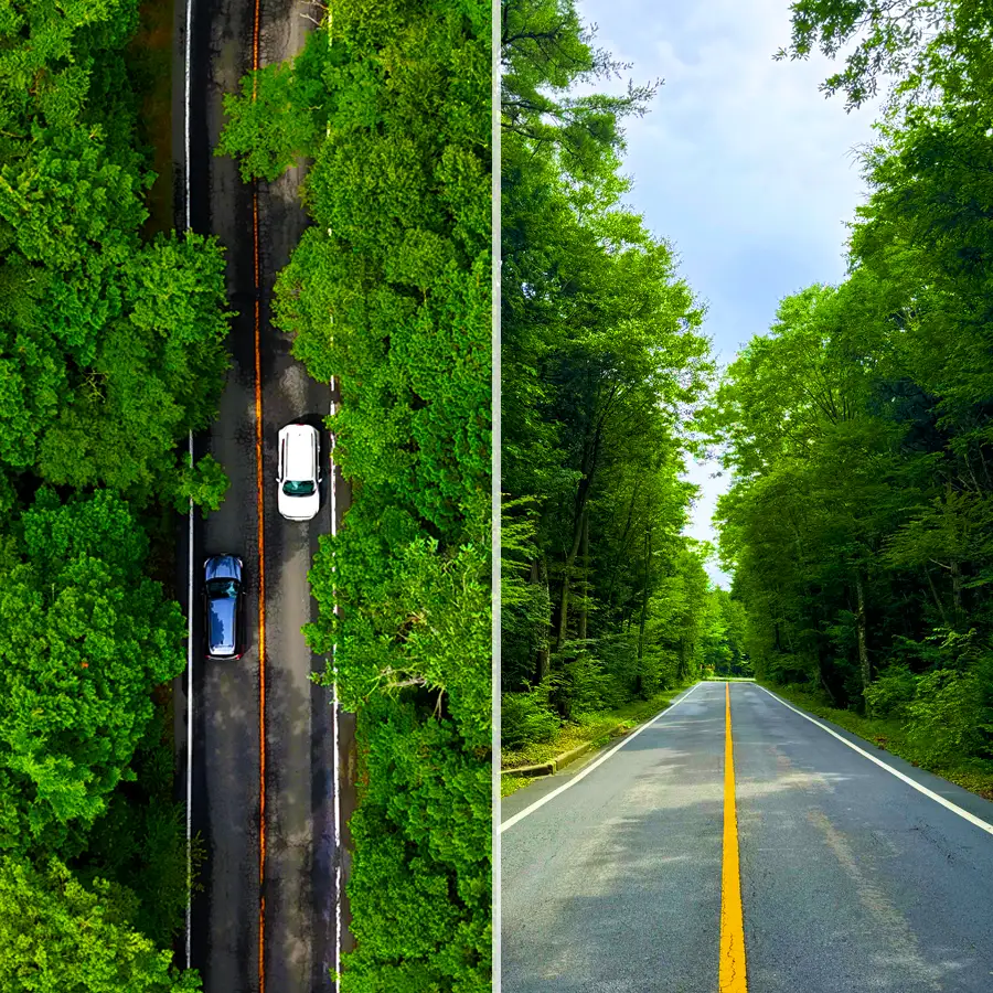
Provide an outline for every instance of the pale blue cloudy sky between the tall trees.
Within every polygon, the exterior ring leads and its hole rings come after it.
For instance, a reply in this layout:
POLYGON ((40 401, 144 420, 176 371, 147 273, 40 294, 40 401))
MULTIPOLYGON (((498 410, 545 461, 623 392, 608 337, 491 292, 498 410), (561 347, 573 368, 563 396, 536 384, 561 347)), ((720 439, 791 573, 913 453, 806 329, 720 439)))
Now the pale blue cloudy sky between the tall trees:
MULTIPOLYGON (((872 140, 878 107, 845 114, 843 97, 820 93, 826 58, 772 61, 790 40, 789 0, 577 6, 598 26, 595 44, 633 63, 632 78, 664 79, 651 111, 627 125, 627 200, 675 249, 727 363, 783 297, 843 278, 844 222, 864 200, 855 151, 872 140)), ((702 495, 687 531, 708 541, 726 487, 718 469, 688 469, 702 495)), ((728 585, 716 565, 711 574, 728 585)))

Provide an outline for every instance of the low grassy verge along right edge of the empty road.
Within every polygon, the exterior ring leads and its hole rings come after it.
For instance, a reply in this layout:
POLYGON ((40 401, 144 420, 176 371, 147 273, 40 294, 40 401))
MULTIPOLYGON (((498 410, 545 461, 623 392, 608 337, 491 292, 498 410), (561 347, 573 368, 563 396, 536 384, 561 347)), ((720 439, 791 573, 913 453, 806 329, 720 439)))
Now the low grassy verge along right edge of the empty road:
POLYGON ((969 790, 985 800, 993 800, 993 761, 983 759, 963 759, 955 765, 928 761, 927 756, 907 734, 904 722, 899 718, 863 717, 854 711, 840 711, 832 707, 820 693, 811 693, 796 685, 777 686, 758 681, 759 685, 788 700, 790 703, 824 717, 858 735, 866 741, 885 751, 890 751, 919 769, 933 772, 949 782, 969 790))

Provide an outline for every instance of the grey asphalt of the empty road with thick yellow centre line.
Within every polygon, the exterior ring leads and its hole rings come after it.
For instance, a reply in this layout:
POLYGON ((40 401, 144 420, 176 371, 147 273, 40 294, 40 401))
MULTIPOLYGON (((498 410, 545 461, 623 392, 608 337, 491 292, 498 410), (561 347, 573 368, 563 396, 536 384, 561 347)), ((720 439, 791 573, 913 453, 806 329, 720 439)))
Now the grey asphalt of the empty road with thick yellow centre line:
MULTIPOLYGON (((993 991, 993 803, 729 692, 747 990, 993 991)), ((504 801, 503 993, 718 990, 725 734, 725 684, 703 683, 504 801)))

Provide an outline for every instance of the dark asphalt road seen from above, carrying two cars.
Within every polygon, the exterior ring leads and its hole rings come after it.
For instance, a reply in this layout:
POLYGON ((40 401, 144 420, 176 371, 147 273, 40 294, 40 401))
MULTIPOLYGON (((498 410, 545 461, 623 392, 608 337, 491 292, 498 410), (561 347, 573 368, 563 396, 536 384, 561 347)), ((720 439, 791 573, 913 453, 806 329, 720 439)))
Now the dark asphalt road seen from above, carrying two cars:
MULTIPOLYGON (((185 4, 178 0, 175 7, 179 124, 185 4)), ((331 528, 330 450, 322 418, 332 394, 291 357, 289 340, 269 322, 276 274, 307 223, 297 195, 300 174, 293 170, 276 183, 259 183, 256 212, 253 188, 242 182, 236 164, 212 154, 223 126, 222 95, 238 90, 252 67, 256 32, 258 64, 279 62, 302 47, 312 26, 305 12, 312 10, 291 0, 263 0, 258 7, 254 0, 195 0, 193 7, 192 227, 216 235, 225 246, 228 298, 239 314, 220 416, 195 446, 197 456, 209 451, 221 462, 232 485, 221 510, 197 523, 194 575, 199 595, 203 558, 233 553, 244 559, 248 584, 248 649, 237 662, 204 661, 202 611, 194 600, 192 810, 206 858, 203 889, 193 900, 191 959, 206 993, 332 991, 329 970, 350 947, 348 904, 337 883, 339 873, 348 874, 345 822, 354 792, 339 783, 342 805, 335 815, 335 773, 350 767, 354 725, 349 715, 338 715, 335 761, 331 693, 309 680, 324 662, 311 654, 300 633, 317 616, 307 572, 318 537, 331 528), (308 523, 285 521, 276 508, 276 439, 292 420, 322 433, 322 508, 308 523)), ((173 145, 181 189, 181 132, 173 145)), ((334 483, 340 524, 348 492, 340 479, 334 483)), ((182 730, 177 738, 183 743, 189 701, 185 682, 179 682, 182 730)), ((185 748, 180 758, 184 765, 185 748)))

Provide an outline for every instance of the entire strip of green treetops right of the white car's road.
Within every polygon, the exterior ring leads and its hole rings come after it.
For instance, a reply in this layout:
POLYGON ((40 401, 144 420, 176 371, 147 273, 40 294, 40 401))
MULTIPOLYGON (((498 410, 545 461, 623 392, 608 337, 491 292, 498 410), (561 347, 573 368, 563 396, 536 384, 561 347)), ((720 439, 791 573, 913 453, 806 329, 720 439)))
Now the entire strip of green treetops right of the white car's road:
POLYGON ((246 181, 309 160, 275 311, 338 378, 353 491, 306 630, 357 717, 343 993, 491 985, 490 31, 481 0, 335 3, 217 149, 246 181))

